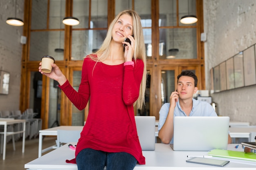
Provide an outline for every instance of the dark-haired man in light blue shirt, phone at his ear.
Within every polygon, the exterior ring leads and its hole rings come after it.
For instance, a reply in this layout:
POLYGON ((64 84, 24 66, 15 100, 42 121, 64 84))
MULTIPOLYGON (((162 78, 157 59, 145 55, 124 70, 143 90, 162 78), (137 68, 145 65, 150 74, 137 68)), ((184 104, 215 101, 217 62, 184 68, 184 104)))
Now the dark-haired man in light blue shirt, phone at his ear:
MULTIPOLYGON (((218 116, 209 103, 193 99, 197 83, 198 78, 191 71, 182 71, 177 76, 177 90, 171 93, 170 103, 165 103, 159 111, 158 137, 162 143, 173 144, 175 116, 218 116)), ((228 143, 231 141, 229 136, 228 143)))

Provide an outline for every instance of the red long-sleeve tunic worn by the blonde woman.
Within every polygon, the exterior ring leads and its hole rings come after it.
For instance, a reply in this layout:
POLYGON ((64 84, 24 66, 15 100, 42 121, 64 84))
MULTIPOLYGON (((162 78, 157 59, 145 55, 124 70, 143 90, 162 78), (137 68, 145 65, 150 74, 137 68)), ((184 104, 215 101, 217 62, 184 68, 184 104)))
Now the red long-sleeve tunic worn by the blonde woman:
MULTIPOLYGON (((85 148, 105 152, 127 152, 145 164, 134 118, 133 103, 139 97, 144 63, 107 65, 86 57, 78 92, 66 81, 60 88, 82 110, 90 98, 86 124, 76 146, 75 156, 85 148)), ((76 163, 75 159, 70 161, 76 163)))

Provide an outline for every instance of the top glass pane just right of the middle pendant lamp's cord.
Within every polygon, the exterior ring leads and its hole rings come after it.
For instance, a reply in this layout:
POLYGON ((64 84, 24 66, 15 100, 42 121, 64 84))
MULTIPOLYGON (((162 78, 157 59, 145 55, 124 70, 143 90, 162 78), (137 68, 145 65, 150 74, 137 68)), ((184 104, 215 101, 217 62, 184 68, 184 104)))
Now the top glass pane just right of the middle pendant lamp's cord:
MULTIPOLYGON (((72 16, 78 18, 80 23, 72 28, 89 28, 89 7, 89 0, 73 0, 72 16)), ((95 13, 95 11, 92 12, 95 13)))

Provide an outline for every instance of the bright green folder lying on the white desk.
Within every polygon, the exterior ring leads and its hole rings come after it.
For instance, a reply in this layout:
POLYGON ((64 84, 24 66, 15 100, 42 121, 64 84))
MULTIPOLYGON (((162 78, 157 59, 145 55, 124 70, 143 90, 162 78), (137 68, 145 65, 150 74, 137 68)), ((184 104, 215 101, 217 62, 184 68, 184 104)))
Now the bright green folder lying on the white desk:
POLYGON ((214 157, 225 157, 225 158, 233 158, 233 159, 243 159, 248 161, 256 161, 256 154, 252 152, 245 153, 241 151, 214 149, 208 152, 208 155, 211 155, 214 157))

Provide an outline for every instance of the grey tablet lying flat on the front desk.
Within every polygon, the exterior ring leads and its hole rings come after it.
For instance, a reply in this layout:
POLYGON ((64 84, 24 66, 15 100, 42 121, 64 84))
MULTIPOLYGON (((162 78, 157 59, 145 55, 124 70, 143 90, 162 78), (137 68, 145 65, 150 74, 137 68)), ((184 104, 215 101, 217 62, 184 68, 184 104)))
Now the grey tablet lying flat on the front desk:
POLYGON ((193 157, 191 159, 186 160, 186 162, 190 163, 200 163, 204 165, 212 165, 212 166, 225 166, 229 161, 218 160, 218 159, 209 159, 209 158, 201 158, 201 157, 193 157))

